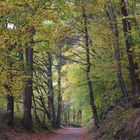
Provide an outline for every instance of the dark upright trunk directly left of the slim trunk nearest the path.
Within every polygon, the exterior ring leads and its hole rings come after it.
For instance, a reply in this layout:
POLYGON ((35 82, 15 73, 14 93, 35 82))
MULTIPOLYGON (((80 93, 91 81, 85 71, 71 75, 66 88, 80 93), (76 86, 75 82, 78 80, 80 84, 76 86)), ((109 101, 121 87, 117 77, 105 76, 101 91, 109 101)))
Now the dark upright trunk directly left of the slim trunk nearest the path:
POLYGON ((51 118, 52 126, 55 128, 55 108, 54 108, 54 91, 53 91, 53 80, 52 80, 52 55, 48 52, 48 110, 51 118))

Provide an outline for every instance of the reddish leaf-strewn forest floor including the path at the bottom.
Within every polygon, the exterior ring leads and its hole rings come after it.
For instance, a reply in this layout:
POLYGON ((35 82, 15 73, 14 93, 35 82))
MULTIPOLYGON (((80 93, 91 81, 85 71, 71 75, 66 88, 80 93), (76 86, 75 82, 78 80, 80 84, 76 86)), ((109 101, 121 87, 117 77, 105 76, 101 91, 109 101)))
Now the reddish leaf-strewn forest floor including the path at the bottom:
POLYGON ((29 134, 10 131, 8 140, 90 140, 85 128, 65 127, 53 133, 40 132, 29 134))

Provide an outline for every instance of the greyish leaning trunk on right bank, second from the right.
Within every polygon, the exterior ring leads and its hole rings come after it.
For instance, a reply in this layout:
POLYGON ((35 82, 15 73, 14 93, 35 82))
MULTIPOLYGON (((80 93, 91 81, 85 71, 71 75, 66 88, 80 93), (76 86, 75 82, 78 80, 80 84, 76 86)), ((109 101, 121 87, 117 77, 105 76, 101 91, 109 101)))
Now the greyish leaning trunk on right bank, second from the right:
POLYGON ((120 45, 119 45, 119 34, 118 34, 118 26, 117 26, 117 19, 116 15, 113 14, 113 7, 112 5, 106 5, 105 7, 107 17, 110 21, 110 29, 112 30, 113 37, 114 37, 114 54, 117 66, 117 76, 118 82, 122 91, 122 94, 125 98, 126 106, 128 106, 128 92, 123 80, 122 76, 122 64, 121 64, 121 56, 120 56, 120 45))

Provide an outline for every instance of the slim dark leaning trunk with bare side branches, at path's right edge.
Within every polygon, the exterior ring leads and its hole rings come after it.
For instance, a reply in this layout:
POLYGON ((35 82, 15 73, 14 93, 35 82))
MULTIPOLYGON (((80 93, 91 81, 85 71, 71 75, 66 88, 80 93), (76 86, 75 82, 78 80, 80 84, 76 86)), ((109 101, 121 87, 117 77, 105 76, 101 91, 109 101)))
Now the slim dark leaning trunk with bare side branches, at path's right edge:
POLYGON ((85 8, 83 8, 83 19, 84 19, 84 38, 85 38, 85 47, 86 47, 86 78, 88 82, 88 93, 90 97, 90 105, 92 108, 93 118, 94 118, 94 125, 98 128, 99 127, 99 120, 97 115, 97 109, 94 102, 94 95, 93 95, 93 88, 92 88, 92 81, 90 77, 90 48, 89 48, 89 33, 87 28, 87 15, 85 12, 85 8))

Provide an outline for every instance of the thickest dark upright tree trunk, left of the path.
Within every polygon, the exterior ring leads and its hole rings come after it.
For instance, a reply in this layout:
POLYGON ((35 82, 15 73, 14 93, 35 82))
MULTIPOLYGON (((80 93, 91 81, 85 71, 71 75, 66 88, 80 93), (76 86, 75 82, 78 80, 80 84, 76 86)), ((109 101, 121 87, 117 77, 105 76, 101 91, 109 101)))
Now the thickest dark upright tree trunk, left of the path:
POLYGON ((32 129, 32 94, 33 94, 33 48, 26 48, 26 70, 27 70, 27 81, 24 94, 24 128, 27 130, 32 129))

